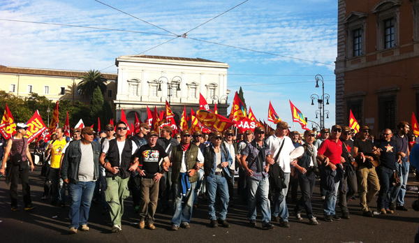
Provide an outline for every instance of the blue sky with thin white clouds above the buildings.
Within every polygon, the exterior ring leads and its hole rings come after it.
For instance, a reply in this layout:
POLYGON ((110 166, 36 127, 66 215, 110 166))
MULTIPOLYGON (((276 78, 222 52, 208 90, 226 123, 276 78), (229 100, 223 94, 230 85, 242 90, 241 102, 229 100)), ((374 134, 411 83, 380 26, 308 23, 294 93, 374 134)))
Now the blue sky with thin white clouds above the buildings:
MULTIPOLYGON (((315 75, 321 74, 325 93, 330 94, 330 105, 326 105, 330 119, 325 119, 325 125, 332 126, 335 122, 333 70, 337 56, 337 1, 243 1, 101 1, 145 22, 93 0, 1 1, 0 65, 116 73, 115 58, 128 54, 222 61, 230 65, 229 103, 242 86, 247 106, 251 106, 256 117, 267 121, 271 101, 279 117, 292 127, 288 100, 309 120, 318 122, 315 119, 317 105, 310 105, 310 95, 321 94, 321 88, 315 88, 314 81, 315 75), (240 3, 242 5, 216 17, 240 3), (213 17, 216 18, 203 24, 213 17), (200 24, 203 25, 198 27, 200 24), (193 29, 195 27, 198 28, 193 29), (189 31, 187 38, 165 43, 175 37, 173 34, 182 35, 186 31, 189 31)), ((302 131, 296 123, 295 129, 302 131)))

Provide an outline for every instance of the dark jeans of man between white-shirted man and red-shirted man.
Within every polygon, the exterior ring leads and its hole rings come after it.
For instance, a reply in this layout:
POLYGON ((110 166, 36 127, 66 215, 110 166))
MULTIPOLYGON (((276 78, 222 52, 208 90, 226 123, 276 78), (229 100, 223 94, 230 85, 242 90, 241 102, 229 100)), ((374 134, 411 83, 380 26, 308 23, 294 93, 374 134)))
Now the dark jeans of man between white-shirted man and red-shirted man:
POLYGON ((314 172, 311 172, 310 175, 300 174, 298 175, 298 181, 300 182, 301 198, 295 205, 294 212, 300 213, 302 209, 305 209, 307 217, 311 219, 314 217, 311 207, 311 195, 313 195, 314 184, 316 184, 316 175, 314 175, 314 172))

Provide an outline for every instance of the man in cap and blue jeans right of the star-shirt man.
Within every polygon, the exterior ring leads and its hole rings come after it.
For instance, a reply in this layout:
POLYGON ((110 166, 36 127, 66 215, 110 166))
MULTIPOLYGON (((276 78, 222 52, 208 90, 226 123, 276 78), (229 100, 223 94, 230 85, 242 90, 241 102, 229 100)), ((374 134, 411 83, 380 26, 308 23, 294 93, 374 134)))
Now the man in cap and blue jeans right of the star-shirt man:
POLYGON ((392 136, 399 148, 398 155, 402 156, 402 160, 396 164, 396 172, 399 174, 400 182, 393 187, 390 195, 390 209, 408 211, 404 207, 404 194, 406 194, 407 177, 409 177, 409 123, 407 121, 400 121, 397 126, 398 131, 392 136), (396 207, 395 207, 396 204, 396 207), (395 208, 394 208, 395 207, 395 208))

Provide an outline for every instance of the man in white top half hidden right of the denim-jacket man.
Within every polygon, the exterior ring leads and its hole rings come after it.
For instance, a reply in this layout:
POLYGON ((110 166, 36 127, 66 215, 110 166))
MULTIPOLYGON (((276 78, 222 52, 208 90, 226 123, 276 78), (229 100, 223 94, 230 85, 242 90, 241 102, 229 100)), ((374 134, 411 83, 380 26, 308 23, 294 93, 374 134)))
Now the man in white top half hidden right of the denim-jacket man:
POLYGON ((233 140, 233 130, 227 129, 224 131, 224 140, 223 145, 228 149, 228 152, 230 152, 231 158, 233 158, 233 163, 231 163, 231 166, 228 168, 230 171, 230 175, 232 175, 228 180, 228 195, 230 196, 229 202, 230 207, 234 206, 233 203, 233 187, 234 187, 234 174, 236 169, 236 161, 237 165, 240 165, 240 154, 237 153, 237 142, 233 140))

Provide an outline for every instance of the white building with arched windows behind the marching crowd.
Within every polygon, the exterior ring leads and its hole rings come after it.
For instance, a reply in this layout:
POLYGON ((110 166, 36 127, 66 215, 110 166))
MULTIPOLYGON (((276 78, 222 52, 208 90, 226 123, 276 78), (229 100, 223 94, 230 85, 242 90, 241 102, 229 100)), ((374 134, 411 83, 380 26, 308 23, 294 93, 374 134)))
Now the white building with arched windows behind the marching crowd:
POLYGON ((117 96, 114 101, 116 118, 121 110, 133 121, 135 112, 142 121, 150 110, 164 110, 166 100, 179 121, 184 105, 186 113, 199 108, 202 94, 211 109, 216 103, 220 115, 227 115, 228 64, 200 58, 161 56, 121 56, 115 61, 118 67, 117 96))

